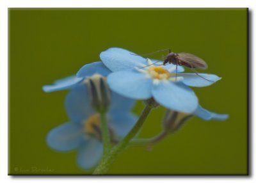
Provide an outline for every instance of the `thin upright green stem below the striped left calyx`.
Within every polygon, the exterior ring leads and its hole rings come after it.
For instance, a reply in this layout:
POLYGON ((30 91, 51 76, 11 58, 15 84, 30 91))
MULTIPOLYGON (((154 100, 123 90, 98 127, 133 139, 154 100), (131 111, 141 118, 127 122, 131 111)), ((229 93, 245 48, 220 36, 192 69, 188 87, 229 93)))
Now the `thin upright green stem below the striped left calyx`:
POLYGON ((103 154, 108 154, 110 148, 111 148, 111 139, 108 129, 108 123, 106 120, 106 113, 100 113, 100 127, 102 130, 102 142, 104 147, 103 154))

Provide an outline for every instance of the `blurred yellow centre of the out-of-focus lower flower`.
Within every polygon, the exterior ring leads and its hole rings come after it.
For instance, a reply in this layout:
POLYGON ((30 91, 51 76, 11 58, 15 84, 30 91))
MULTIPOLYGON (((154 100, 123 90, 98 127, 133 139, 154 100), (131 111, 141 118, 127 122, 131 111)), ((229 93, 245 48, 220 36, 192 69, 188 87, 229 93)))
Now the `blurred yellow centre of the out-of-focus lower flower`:
POLYGON ((101 132, 100 132, 100 115, 92 115, 90 116, 84 125, 84 131, 87 134, 91 134, 93 136, 96 136, 97 138, 100 138, 101 132))

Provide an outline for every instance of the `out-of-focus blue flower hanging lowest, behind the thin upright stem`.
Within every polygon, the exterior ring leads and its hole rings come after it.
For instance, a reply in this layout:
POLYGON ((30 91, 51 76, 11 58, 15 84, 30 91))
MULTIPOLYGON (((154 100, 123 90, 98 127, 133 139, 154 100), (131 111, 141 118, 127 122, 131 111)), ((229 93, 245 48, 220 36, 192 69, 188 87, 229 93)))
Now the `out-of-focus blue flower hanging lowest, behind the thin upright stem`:
MULTIPOLYGON (((133 104, 133 100, 112 94, 108 125, 113 143, 126 136, 136 123, 136 116, 130 113, 133 104)), ((86 170, 93 168, 99 163, 103 149, 100 116, 90 105, 86 86, 73 88, 67 96, 65 106, 72 122, 52 129, 47 136, 47 144, 60 152, 77 149, 79 166, 86 170)))

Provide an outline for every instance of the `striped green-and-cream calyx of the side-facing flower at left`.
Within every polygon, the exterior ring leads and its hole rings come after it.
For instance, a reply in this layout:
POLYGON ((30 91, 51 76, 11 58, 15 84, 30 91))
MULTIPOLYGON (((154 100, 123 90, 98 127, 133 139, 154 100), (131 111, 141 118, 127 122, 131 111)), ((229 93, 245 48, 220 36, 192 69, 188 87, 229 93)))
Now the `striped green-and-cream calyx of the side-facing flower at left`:
POLYGON ((108 111, 108 107, 111 103, 111 92, 106 77, 100 74, 94 74, 92 77, 88 77, 85 83, 93 108, 99 113, 108 111))

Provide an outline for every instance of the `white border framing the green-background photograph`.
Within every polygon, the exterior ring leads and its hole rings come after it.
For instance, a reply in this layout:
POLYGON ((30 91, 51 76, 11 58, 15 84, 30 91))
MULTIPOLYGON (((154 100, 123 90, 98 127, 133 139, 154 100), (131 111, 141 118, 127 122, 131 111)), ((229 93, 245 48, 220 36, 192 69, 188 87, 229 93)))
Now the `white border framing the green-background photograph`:
MULTIPOLYGON (((256 3, 253 0, 1 0, 0 1, 0 182, 256 182, 255 176, 252 177, 11 177, 8 174, 8 8, 250 8, 252 16, 250 17, 252 30, 255 30, 254 10, 256 3)), ((251 46, 255 43, 255 37, 251 35, 251 46)), ((251 63, 253 63, 253 49, 251 63)), ((234 53, 235 54, 235 53, 234 53)), ((256 65, 252 65, 255 70, 256 65)), ((234 71, 239 72, 239 71, 234 71)), ((256 78, 253 74, 253 90, 255 91, 256 78)), ((237 73, 238 76, 238 73, 237 73)), ((234 78, 236 79, 236 78, 234 78)), ((239 87, 239 86, 237 86, 239 87)), ((236 90, 236 88, 234 88, 236 90)), ((253 93, 253 92, 252 92, 253 93)), ((239 97, 239 96, 237 96, 239 97)), ((235 100, 235 99, 234 99, 235 100)), ((253 99, 253 104, 255 99, 253 99)), ((252 109, 252 113, 254 110, 252 109)), ((253 120, 251 122, 252 139, 255 139, 253 131, 255 126, 253 120)), ((251 143, 253 145, 253 143, 251 143)), ((255 152, 255 145, 252 146, 252 152, 255 152)), ((251 163, 255 164, 255 159, 251 159, 251 163)), ((252 167, 252 173, 255 170, 252 167)))

